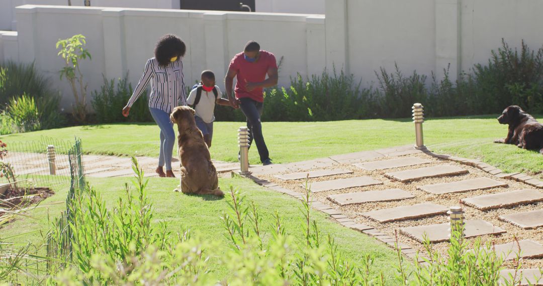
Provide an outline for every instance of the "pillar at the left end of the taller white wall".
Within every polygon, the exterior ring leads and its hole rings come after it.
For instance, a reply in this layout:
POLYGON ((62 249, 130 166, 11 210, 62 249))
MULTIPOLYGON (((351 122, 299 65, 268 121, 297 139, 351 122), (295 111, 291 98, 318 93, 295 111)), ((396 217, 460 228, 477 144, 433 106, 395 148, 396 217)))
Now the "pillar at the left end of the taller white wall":
POLYGON ((349 74, 347 0, 326 0, 326 68, 349 74))

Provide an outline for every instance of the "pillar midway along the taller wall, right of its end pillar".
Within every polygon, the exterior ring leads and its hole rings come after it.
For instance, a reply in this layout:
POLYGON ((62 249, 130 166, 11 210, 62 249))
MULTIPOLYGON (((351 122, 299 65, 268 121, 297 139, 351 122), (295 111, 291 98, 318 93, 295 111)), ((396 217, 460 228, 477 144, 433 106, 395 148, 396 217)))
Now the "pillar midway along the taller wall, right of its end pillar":
POLYGON ((443 79, 443 69, 449 66, 451 81, 460 70, 459 0, 435 0, 435 75, 443 79))

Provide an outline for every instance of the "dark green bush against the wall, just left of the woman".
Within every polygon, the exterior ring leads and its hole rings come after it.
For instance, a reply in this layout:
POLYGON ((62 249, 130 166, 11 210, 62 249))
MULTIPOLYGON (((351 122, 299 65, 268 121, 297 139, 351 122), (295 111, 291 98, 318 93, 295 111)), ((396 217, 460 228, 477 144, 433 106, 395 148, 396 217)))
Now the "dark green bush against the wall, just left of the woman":
POLYGON ((96 121, 98 123, 153 121, 146 100, 147 96, 142 96, 132 105, 130 116, 122 115, 121 111, 132 92, 132 85, 128 83, 128 74, 118 79, 117 86, 115 86, 115 79, 108 81, 104 77, 104 85, 100 91, 92 93, 92 108, 96 113, 96 121))

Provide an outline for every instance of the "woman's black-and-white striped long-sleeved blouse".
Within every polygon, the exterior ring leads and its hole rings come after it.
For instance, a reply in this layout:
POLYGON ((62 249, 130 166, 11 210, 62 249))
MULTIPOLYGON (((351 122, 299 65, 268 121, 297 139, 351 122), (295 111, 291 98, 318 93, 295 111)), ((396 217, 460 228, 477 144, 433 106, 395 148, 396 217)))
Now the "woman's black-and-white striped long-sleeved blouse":
POLYGON ((171 113, 176 106, 187 105, 183 62, 181 59, 162 67, 152 57, 145 64, 143 75, 137 83, 130 100, 128 100, 129 107, 132 107, 134 102, 143 94, 151 78, 153 78, 153 84, 149 95, 149 107, 171 113))

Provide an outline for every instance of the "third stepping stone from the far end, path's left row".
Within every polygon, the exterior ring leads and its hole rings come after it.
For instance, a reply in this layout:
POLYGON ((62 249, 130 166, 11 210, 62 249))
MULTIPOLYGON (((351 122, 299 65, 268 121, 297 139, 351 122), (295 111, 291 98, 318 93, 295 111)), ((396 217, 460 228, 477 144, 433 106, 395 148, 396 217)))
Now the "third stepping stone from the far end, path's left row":
POLYGON ((411 193, 401 190, 399 188, 393 188, 383 191, 367 191, 359 193, 346 193, 346 194, 333 194, 328 196, 330 201, 338 205, 353 205, 372 203, 374 201, 392 201, 414 198, 411 193))

